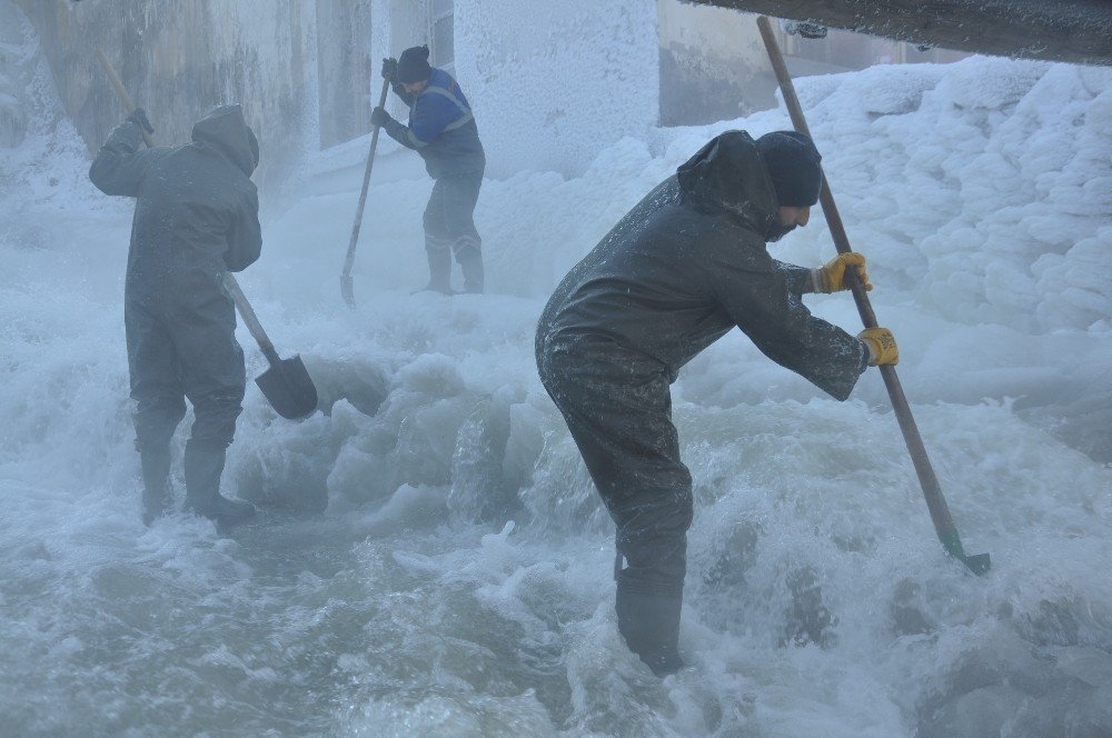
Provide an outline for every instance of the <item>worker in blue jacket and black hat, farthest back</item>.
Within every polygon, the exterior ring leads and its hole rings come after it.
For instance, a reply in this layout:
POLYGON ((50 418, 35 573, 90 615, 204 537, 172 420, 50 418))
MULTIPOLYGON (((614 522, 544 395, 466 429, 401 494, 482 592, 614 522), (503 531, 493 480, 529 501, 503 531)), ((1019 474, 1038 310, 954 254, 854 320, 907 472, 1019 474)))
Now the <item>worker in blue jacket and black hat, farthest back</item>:
POLYGON ((414 47, 398 60, 383 60, 383 77, 409 107, 409 124, 375 108, 370 121, 425 159, 436 180, 425 207, 426 289, 451 293, 451 253, 464 273, 464 291, 483 291, 483 241, 475 230, 475 203, 483 184, 486 154, 471 107, 459 84, 428 63, 428 47, 414 47))

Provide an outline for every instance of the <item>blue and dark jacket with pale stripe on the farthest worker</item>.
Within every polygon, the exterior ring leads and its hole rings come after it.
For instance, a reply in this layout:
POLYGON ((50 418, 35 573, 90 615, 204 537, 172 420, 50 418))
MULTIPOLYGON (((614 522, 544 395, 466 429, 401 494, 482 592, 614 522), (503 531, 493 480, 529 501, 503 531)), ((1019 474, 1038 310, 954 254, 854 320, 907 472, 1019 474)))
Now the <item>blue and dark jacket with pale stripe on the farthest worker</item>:
POLYGON ((400 84, 394 92, 409 106, 409 124, 389 120, 386 133, 425 159, 429 177, 478 173, 486 168, 479 129, 471 106, 459 84, 443 69, 434 69, 420 94, 413 96, 400 84))

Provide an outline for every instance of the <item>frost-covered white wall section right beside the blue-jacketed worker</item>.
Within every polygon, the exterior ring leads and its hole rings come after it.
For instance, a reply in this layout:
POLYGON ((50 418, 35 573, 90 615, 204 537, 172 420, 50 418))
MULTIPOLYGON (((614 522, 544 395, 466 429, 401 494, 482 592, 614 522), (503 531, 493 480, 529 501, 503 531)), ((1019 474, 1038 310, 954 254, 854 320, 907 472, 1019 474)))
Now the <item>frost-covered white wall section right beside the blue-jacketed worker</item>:
POLYGON ((659 111, 653 0, 456 0, 456 71, 495 177, 580 173, 659 111))

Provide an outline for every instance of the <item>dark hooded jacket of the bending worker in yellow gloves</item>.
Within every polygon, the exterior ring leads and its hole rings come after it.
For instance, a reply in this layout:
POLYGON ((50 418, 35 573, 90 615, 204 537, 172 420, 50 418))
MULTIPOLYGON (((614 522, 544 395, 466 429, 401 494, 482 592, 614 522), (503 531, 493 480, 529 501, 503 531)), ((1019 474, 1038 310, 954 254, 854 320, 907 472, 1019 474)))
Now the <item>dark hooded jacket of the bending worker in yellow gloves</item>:
POLYGON ((848 397, 862 343, 811 315, 810 269, 768 256, 777 202, 744 131, 723 133, 648 193, 556 288, 537 327, 546 372, 607 365, 623 382, 667 375, 734 326, 776 363, 848 397))

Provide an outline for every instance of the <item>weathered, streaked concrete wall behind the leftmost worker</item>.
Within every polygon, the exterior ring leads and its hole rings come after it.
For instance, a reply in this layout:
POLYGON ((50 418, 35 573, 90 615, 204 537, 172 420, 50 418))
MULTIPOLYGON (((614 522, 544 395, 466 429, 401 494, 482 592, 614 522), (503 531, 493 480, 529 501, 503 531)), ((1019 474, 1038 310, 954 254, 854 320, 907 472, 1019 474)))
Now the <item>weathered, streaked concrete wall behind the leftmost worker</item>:
POLYGON ((41 38, 66 111, 90 150, 123 118, 93 49, 113 62, 160 142, 189 140, 209 107, 240 102, 260 177, 316 134, 315 3, 302 0, 14 0, 41 38))

